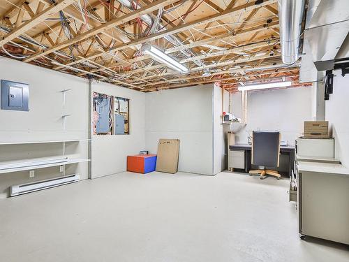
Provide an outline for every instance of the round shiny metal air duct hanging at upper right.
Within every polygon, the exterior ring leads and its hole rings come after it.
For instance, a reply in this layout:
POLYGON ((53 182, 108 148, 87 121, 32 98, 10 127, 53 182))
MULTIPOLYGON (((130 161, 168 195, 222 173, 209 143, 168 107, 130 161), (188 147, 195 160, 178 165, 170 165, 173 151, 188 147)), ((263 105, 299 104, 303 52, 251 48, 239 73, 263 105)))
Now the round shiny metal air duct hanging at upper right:
POLYGON ((299 59, 299 38, 305 0, 279 0, 281 58, 284 64, 294 64, 299 59))

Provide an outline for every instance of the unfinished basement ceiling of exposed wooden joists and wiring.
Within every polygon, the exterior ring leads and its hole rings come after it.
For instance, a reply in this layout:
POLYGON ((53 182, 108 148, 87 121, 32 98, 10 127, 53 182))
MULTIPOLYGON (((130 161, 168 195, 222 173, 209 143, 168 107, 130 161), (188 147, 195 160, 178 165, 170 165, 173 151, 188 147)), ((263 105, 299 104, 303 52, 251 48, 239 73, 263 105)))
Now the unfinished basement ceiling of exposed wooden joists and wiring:
POLYGON ((299 66, 281 61, 277 0, 0 0, 0 19, 2 56, 142 92, 299 86, 299 66), (142 53, 144 44, 189 72, 142 53))

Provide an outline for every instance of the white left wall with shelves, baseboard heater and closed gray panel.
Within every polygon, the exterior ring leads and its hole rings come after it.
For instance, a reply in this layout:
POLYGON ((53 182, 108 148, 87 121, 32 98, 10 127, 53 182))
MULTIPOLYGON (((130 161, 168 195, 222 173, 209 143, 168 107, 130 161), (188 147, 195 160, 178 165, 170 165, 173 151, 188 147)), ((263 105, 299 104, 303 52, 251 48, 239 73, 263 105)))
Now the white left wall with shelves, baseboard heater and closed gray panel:
MULTIPOLYGON (((21 61, 0 57, 0 79, 29 84, 29 112, 0 110, 0 142, 23 142, 43 140, 86 139, 89 133, 88 82, 82 78, 55 72, 21 61), (66 93, 63 108, 61 90, 66 93), (66 119, 63 130, 62 115, 66 119)), ((67 143, 66 154, 70 157, 87 158, 87 142, 67 143)), ((0 145, 0 161, 53 157, 63 153, 61 143, 36 145, 0 145)), ((82 179, 88 176, 87 163, 68 166, 66 174, 79 173, 82 179)), ((13 184, 34 182, 57 177, 59 167, 36 170, 29 179, 27 171, 0 174, 0 197, 7 196, 13 184)))

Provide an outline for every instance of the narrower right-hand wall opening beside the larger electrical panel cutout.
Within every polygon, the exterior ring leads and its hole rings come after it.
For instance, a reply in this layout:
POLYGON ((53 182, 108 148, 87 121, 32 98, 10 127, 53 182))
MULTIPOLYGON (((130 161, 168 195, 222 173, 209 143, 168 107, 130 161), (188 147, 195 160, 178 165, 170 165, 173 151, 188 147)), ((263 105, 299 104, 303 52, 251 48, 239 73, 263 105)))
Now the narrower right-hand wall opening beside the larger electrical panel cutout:
POLYGON ((114 133, 128 135, 130 133, 129 99, 114 97, 114 133))

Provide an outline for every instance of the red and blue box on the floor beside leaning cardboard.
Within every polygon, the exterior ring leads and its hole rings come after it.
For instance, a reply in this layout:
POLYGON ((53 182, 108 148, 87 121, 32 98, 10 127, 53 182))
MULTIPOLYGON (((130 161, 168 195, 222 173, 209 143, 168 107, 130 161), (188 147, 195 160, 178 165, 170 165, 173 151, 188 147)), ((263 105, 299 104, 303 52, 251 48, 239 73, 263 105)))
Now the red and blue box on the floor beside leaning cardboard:
POLYGON ((127 170, 129 172, 146 174, 155 171, 156 154, 136 154, 127 156, 127 170))

